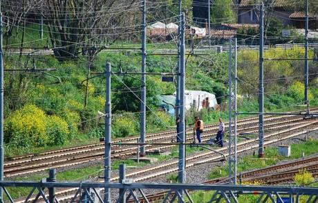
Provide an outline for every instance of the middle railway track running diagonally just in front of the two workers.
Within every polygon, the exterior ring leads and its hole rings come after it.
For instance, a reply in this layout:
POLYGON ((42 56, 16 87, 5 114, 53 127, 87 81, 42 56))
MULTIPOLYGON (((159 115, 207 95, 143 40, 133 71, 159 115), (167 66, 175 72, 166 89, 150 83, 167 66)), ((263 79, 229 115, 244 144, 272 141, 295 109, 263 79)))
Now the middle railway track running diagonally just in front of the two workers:
MULTIPOLYGON (((305 123, 301 123, 294 127, 288 127, 284 130, 279 130, 277 132, 272 132, 264 136, 264 145, 270 145, 272 143, 277 143, 286 139, 290 139, 295 136, 299 136, 307 132, 307 130, 318 130, 318 121, 310 120, 305 123)), ((238 143, 238 153, 247 152, 250 150, 255 150, 259 147, 258 139, 251 139, 247 141, 242 141, 238 143)), ((227 151, 226 147, 219 148, 218 152, 227 151)), ((216 154, 215 152, 200 152, 195 155, 188 156, 187 168, 193 167, 195 164, 202 164, 209 161, 217 161, 221 159, 221 155, 216 154)), ((174 159, 171 161, 167 161, 162 164, 158 164, 155 166, 147 166, 144 168, 131 170, 127 173, 127 178, 133 178, 134 182, 143 182, 154 177, 160 177, 162 175, 167 175, 169 173, 174 173, 178 171, 178 160, 174 159)), ((111 178, 112 182, 118 181, 118 176, 113 175, 111 178)), ((67 201, 72 195, 70 193, 74 193, 77 188, 71 188, 64 191, 57 191, 56 195, 59 200, 67 201)))

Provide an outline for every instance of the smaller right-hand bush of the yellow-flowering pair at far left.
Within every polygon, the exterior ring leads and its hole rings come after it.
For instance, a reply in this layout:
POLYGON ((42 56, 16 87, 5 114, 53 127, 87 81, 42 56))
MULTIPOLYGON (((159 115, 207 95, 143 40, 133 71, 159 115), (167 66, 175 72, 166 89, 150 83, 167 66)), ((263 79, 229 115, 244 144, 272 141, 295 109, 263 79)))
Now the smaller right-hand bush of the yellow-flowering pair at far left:
POLYGON ((58 116, 48 116, 46 118, 46 133, 48 134, 48 145, 62 145, 68 138, 68 125, 58 116))

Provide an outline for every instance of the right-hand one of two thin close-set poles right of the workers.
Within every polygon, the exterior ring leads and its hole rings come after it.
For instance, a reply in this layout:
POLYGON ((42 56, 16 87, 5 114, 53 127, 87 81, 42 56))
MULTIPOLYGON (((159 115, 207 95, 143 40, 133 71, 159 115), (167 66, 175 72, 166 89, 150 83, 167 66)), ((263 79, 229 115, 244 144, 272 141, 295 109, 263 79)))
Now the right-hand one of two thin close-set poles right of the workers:
POLYGON ((235 48, 234 48, 234 185, 236 185, 236 177, 237 177, 237 38, 235 38, 235 48))

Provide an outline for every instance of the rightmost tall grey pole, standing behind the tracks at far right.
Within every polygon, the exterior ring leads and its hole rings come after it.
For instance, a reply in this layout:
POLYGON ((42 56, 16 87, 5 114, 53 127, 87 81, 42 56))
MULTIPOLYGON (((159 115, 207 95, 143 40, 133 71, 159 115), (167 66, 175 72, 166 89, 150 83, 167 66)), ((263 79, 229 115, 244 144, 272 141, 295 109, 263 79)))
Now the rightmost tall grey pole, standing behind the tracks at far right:
POLYGON ((308 0, 306 0, 306 30, 305 30, 305 69, 304 69, 304 78, 305 78, 305 105, 307 105, 307 114, 310 114, 309 110, 309 98, 308 98, 308 76, 309 76, 309 67, 308 67, 308 0))

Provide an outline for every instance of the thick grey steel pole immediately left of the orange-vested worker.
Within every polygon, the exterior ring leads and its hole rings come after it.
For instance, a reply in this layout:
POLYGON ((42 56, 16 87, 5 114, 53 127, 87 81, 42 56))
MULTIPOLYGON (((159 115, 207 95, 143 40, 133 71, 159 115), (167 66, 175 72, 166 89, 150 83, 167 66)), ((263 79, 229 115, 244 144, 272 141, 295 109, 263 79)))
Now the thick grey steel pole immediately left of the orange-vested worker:
MULTIPOLYGON (((185 13, 183 12, 181 20, 181 35, 180 35, 180 140, 179 145, 179 183, 185 183, 185 13)), ((183 194, 180 191, 181 195, 183 194)), ((179 202, 183 202, 179 198, 179 202)))

